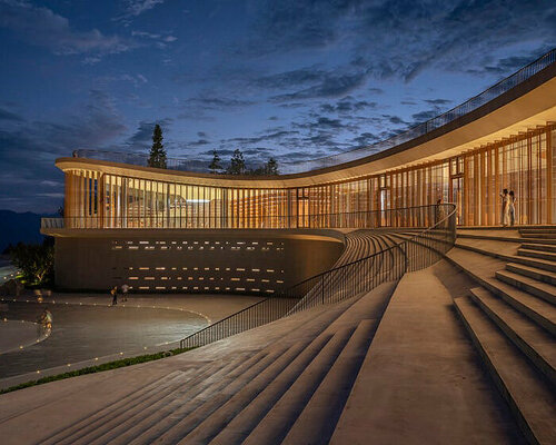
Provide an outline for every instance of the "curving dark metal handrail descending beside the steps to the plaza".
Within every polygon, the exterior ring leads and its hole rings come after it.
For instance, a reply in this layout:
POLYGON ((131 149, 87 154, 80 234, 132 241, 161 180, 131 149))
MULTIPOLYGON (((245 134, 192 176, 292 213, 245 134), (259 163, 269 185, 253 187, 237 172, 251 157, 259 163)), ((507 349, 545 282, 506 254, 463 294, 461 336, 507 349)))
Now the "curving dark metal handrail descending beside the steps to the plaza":
POLYGON ((441 209, 444 211, 443 217, 410 239, 307 278, 290 286, 277 297, 258 301, 183 338, 180 346, 203 346, 275 322, 286 315, 318 305, 338 303, 359 295, 361 291, 369 291, 386 280, 399 279, 407 270, 418 270, 430 266, 440 258, 443 251, 447 251, 454 246, 456 239, 456 206, 447 204, 430 206, 430 208, 435 211, 435 215, 439 215, 441 209), (445 209, 448 211, 445 211, 445 209), (435 231, 438 233, 438 230, 444 236, 440 239, 431 238, 430 235, 434 235, 435 231), (416 243, 417 239, 423 239, 424 243, 416 243), (400 253, 397 258, 395 251, 400 253), (385 269, 385 265, 388 267, 384 261, 387 256, 391 257, 391 264, 388 269, 385 269), (377 258, 380 258, 380 261, 378 263, 379 266, 375 267, 377 258), (359 267, 361 265, 363 267, 359 267), (371 273, 371 276, 369 276, 369 273, 371 273), (338 274, 342 275, 340 280, 336 279, 338 274), (363 279, 358 280, 358 278, 363 279), (325 280, 328 281, 326 288, 325 280), (301 289, 301 293, 298 289, 301 289), (301 297, 299 297, 300 294, 301 297), (261 316, 262 313, 267 316, 266 318, 261 316))

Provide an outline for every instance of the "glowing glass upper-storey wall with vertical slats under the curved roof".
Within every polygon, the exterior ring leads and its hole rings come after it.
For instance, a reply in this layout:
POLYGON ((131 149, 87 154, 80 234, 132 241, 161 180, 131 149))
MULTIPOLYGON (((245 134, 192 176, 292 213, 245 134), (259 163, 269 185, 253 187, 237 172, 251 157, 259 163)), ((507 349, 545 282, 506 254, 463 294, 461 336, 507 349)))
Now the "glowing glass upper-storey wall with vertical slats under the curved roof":
POLYGON ((165 182, 93 170, 66 172, 66 224, 75 228, 326 228, 423 226, 391 209, 458 206, 459 225, 502 224, 504 188, 516 224, 556 222, 554 126, 457 157, 312 187, 256 189, 165 182), (369 214, 369 211, 375 212, 369 214))

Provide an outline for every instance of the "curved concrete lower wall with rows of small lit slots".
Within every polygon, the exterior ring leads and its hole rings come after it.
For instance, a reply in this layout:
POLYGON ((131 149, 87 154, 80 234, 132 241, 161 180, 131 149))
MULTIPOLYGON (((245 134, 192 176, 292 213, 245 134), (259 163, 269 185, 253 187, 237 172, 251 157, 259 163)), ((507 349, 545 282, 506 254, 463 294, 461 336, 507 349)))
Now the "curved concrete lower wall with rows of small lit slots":
POLYGON ((329 269, 332 230, 82 230, 56 237, 59 289, 272 295, 329 269))

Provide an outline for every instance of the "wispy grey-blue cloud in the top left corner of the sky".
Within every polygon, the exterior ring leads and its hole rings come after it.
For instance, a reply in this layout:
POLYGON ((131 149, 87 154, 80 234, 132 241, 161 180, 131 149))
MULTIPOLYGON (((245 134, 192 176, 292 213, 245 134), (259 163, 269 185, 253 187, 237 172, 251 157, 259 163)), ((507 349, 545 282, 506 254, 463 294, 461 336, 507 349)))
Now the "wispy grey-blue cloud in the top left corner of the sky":
MULTIPOLYGON (((67 18, 44 7, 27 1, 8 0, 0 3, 0 27, 16 32, 22 40, 46 47, 56 55, 109 55, 131 48, 117 36, 105 36, 98 29, 72 30, 67 18)), ((92 61, 95 59, 89 59, 92 61)))

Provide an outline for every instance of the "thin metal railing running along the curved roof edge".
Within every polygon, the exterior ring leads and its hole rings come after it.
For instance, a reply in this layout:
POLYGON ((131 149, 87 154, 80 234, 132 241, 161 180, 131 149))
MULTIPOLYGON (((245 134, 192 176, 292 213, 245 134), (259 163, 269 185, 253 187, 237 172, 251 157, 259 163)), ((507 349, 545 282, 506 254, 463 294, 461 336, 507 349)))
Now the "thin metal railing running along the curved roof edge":
MULTIPOLYGON (((443 112, 425 122, 418 123, 410 127, 408 130, 396 135, 391 138, 381 140, 374 145, 357 147, 355 149, 339 152, 337 155, 330 155, 322 158, 297 161, 297 162, 280 162, 279 170, 280 174, 299 174, 305 171, 317 170, 321 168, 327 168, 331 166, 337 166, 339 164, 349 162, 353 160, 361 159, 367 156, 374 155, 378 151, 384 151, 388 148, 396 147, 400 144, 413 140, 417 137, 424 136, 433 130, 436 130, 476 109, 496 99, 503 93, 509 91, 516 86, 525 82, 530 77, 547 68, 548 66, 556 62, 556 48, 540 56, 537 60, 530 62, 529 65, 523 67, 518 71, 508 76, 507 78, 498 81, 494 86, 487 88, 483 92, 471 97, 465 102, 454 107, 453 109, 443 112)), ((73 156, 80 158, 92 158, 92 159, 103 159, 115 162, 125 162, 139 166, 148 166, 149 156, 141 154, 127 154, 117 151, 106 151, 106 150, 90 150, 90 149, 79 149, 73 151, 73 156)), ((191 160, 191 159, 179 159, 179 158, 168 158, 167 168, 172 170, 181 171, 208 171, 209 160, 191 160)))

